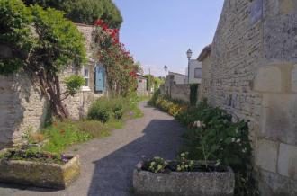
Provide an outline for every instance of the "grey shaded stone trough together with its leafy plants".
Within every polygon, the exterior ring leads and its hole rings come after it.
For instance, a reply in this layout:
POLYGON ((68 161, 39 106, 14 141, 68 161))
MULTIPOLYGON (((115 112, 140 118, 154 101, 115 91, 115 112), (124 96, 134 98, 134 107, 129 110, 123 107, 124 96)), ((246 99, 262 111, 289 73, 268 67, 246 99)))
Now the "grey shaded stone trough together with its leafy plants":
POLYGON ((137 195, 229 196, 234 193, 234 173, 229 166, 215 162, 155 157, 140 162, 133 174, 137 195))

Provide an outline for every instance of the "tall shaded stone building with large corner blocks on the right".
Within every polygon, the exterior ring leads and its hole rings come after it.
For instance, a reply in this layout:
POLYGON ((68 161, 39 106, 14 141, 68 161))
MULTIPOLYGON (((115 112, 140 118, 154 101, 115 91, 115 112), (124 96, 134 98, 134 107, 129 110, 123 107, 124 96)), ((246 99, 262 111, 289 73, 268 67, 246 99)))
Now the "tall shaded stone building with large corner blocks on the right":
POLYGON ((225 0, 201 97, 249 120, 261 194, 297 195, 297 1, 225 0))

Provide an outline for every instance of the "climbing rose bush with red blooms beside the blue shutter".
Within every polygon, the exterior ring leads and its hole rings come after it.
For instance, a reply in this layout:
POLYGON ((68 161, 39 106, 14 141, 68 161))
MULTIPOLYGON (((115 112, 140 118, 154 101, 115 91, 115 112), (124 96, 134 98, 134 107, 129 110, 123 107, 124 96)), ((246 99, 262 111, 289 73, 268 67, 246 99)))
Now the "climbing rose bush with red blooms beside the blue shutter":
POLYGON ((128 96, 137 89, 139 66, 119 41, 119 30, 109 29, 103 20, 94 22, 94 57, 106 68, 107 82, 114 94, 128 96))

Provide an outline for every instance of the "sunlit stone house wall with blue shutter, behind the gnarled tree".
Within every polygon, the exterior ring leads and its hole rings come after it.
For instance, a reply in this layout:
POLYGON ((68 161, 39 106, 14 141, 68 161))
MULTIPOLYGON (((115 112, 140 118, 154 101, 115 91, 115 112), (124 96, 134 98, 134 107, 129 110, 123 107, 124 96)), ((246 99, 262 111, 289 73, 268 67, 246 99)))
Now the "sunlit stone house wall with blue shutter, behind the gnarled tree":
MULTIPOLYGON (((90 103, 107 94, 106 77, 103 66, 94 62, 91 49, 94 26, 76 24, 85 36, 88 63, 83 67, 65 70, 63 78, 73 74, 84 76, 85 85, 74 97, 63 103, 72 119, 85 117, 90 103)), ((62 89, 64 88, 61 84, 62 89)), ((39 86, 21 72, 13 76, 0 76, 0 148, 18 143, 23 133, 40 129, 48 115, 49 102, 42 96, 39 86)))

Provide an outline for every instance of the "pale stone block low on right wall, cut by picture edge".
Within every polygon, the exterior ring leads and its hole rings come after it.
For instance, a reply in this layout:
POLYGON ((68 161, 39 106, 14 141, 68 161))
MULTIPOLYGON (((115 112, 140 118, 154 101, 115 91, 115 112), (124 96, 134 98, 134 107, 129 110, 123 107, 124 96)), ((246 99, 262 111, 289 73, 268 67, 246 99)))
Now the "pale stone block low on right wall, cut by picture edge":
POLYGON ((297 180, 297 147, 280 144, 277 170, 279 174, 297 180))

